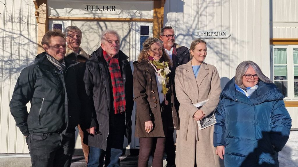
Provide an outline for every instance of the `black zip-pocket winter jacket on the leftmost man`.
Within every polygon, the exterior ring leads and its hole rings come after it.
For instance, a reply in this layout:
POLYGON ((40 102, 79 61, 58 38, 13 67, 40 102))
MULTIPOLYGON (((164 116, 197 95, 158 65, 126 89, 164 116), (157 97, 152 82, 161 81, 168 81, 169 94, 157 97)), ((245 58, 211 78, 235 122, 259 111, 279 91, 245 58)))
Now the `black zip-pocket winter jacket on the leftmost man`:
POLYGON ((10 101, 10 112, 21 132, 75 132, 80 121, 79 85, 83 71, 79 63, 65 60, 66 69, 58 70, 46 57, 38 54, 34 64, 24 68, 18 77, 10 101), (30 101, 28 114, 26 104, 30 101))

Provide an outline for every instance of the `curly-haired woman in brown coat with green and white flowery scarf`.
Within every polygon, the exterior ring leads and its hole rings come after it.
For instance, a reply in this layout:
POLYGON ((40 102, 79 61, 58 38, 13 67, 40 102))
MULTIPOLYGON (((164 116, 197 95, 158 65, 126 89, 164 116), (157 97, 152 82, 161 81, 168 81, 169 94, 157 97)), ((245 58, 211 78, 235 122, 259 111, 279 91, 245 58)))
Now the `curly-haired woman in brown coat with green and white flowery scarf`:
POLYGON ((178 129, 171 89, 172 63, 157 38, 143 43, 139 60, 134 62, 134 101, 136 130, 139 137, 139 167, 147 167, 150 154, 153 167, 162 167, 165 134, 168 128, 178 129))

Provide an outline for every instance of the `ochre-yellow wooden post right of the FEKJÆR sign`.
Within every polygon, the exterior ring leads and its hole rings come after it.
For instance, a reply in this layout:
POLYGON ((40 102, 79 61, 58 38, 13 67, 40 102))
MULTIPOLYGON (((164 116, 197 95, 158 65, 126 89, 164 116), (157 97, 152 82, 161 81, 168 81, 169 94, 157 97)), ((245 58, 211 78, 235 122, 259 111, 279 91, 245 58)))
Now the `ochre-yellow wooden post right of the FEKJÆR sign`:
POLYGON ((162 1, 153 2, 153 37, 159 38, 162 23, 162 1))

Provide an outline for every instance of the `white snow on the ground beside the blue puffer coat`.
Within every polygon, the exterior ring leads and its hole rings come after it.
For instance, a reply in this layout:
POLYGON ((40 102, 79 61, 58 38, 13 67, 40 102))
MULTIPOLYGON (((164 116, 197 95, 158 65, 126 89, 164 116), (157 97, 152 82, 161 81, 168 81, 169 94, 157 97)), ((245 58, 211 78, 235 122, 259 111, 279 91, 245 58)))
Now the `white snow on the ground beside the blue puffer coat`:
POLYGON ((280 167, 298 167, 298 131, 291 131, 290 138, 278 154, 280 167))

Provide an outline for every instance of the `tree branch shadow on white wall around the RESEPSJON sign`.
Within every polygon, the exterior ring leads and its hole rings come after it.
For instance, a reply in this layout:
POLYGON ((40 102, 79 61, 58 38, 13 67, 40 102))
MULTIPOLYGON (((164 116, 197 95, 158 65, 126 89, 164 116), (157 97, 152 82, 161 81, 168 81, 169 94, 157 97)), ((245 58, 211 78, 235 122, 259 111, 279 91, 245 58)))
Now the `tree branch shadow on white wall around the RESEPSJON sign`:
MULTIPOLYGON (((195 3, 195 2, 194 2, 195 3)), ((188 7, 189 9, 196 9, 192 11, 184 11, 186 7, 184 7, 185 2, 182 0, 171 0, 166 1, 165 5, 165 13, 164 13, 164 26, 173 26, 176 33, 176 42, 180 45, 185 45, 190 47, 190 43, 195 40, 192 37, 191 33, 196 30, 226 30, 231 31, 231 27, 220 24, 218 22, 215 23, 213 19, 215 17, 216 7, 221 7, 225 3, 229 3, 228 0, 222 1, 200 1, 195 6, 188 7), (209 9, 209 10, 208 10, 209 9), (173 14, 176 13, 176 14, 173 14), (188 17, 188 15, 190 15, 188 17), (175 18, 176 16, 176 18, 175 18), (187 16, 187 17, 186 17, 187 16), (188 23, 185 22, 185 18, 187 18, 188 23), (204 23, 204 24, 202 24, 204 23), (190 25, 185 26, 184 24, 190 25), (182 40, 181 40, 182 39, 182 40), (180 40, 180 42, 178 41, 180 40), (185 43, 185 44, 183 44, 185 43)), ((231 19, 231 18, 229 18, 231 19)), ((238 46, 239 48, 244 47, 244 40, 239 40, 236 38, 236 35, 231 35, 227 39, 203 39, 207 42, 207 48, 210 53, 213 52, 214 59, 216 62, 223 62, 224 66, 231 66, 234 63, 237 63, 237 52, 230 52, 229 50, 233 46, 238 46)), ((234 49, 235 50, 235 49, 234 49)), ((206 57, 206 61, 208 61, 208 56, 206 57)), ((213 64, 212 62, 209 62, 213 64)), ((215 62, 214 62, 215 63, 215 62)))

